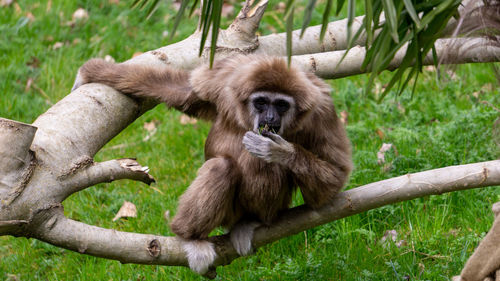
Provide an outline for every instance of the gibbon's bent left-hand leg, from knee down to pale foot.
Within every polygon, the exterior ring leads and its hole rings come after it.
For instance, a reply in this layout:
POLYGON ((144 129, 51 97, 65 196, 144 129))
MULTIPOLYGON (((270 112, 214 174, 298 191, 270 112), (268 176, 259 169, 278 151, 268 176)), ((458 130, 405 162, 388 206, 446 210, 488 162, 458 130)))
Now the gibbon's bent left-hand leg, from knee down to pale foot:
POLYGON ((189 267, 200 274, 213 263, 216 253, 205 240, 217 226, 234 220, 234 189, 239 173, 231 160, 213 158, 198 170, 198 176, 179 200, 171 228, 188 240, 184 246, 189 267))

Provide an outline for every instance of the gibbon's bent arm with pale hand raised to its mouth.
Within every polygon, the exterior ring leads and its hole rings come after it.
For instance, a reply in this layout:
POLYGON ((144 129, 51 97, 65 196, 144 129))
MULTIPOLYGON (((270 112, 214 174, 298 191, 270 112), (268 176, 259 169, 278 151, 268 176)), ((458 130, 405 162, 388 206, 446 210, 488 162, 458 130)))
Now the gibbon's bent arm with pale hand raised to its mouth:
POLYGON ((312 153, 299 144, 290 143, 276 134, 268 137, 247 132, 246 149, 266 162, 279 163, 293 173, 304 201, 313 208, 325 205, 340 192, 351 171, 349 147, 319 144, 312 153))

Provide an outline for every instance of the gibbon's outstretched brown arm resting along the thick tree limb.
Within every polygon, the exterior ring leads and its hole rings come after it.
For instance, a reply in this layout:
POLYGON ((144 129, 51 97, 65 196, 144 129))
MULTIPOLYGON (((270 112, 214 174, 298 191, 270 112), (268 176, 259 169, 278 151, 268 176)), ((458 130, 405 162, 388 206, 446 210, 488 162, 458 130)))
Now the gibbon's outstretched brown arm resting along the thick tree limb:
POLYGON ((157 70, 92 59, 78 70, 73 90, 87 83, 105 84, 134 97, 153 98, 198 118, 213 120, 216 115, 215 106, 192 90, 189 73, 167 66, 157 70))

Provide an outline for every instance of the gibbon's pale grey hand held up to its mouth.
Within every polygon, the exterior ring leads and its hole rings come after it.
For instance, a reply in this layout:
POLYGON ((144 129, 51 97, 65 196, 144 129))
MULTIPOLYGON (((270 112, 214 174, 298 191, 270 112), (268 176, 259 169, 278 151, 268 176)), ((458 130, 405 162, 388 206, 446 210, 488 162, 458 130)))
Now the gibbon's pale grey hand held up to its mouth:
POLYGON ((273 133, 266 133, 265 136, 262 136, 248 131, 243 137, 243 145, 253 156, 268 163, 286 164, 290 157, 295 154, 293 144, 273 133))

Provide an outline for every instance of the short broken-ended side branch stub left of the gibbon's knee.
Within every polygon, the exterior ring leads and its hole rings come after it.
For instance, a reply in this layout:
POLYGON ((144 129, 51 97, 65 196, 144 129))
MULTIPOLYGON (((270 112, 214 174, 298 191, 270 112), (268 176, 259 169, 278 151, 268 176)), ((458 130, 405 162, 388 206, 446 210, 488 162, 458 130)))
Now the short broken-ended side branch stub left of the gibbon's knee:
POLYGON ((148 174, 149 168, 143 167, 135 159, 124 158, 94 163, 92 159, 76 163, 67 173, 59 176, 67 188, 58 194, 58 200, 62 202, 68 196, 87 187, 112 182, 121 179, 141 181, 147 185, 155 182, 148 174))

